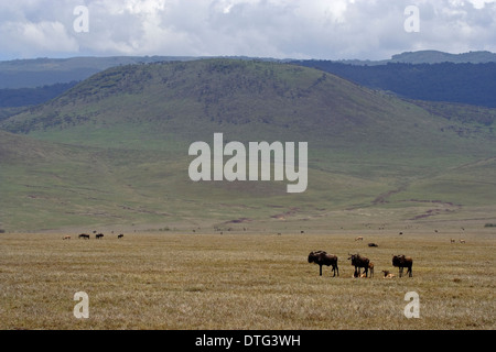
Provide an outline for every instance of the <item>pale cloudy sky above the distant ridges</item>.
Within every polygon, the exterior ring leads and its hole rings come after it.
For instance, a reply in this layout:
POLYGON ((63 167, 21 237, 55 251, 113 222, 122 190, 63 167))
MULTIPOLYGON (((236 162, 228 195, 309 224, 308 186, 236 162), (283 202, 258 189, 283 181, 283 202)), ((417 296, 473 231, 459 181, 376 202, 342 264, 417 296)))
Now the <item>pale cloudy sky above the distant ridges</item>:
POLYGON ((496 52, 496 0, 0 0, 0 61, 419 50, 496 52))

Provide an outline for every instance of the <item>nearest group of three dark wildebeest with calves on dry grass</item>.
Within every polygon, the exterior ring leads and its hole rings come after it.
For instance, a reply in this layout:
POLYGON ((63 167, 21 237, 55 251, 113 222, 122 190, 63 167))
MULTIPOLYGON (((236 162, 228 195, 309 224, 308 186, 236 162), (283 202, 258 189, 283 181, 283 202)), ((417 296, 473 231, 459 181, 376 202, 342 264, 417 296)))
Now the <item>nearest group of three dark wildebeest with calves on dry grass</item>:
MULTIPOLYGON (((356 238, 355 241, 362 241, 363 238, 356 238)), ((368 246, 378 246, 375 243, 369 243, 368 246)), ((374 263, 366 256, 360 255, 359 253, 349 254, 348 261, 352 261, 352 266, 355 267, 353 273, 353 277, 374 277, 374 263), (362 273, 362 268, 364 273, 362 273), (369 275, 370 274, 370 275, 369 275)), ((333 277, 339 276, 339 268, 337 267, 337 256, 334 254, 328 254, 325 251, 312 251, 309 254, 309 263, 315 263, 319 265, 319 273, 322 276, 322 266, 332 266, 333 277)), ((409 277, 412 277, 412 265, 413 260, 410 256, 401 255, 392 255, 391 264, 393 267, 398 267, 399 277, 403 275, 403 268, 407 268, 407 274, 409 277)), ((385 278, 395 277, 389 271, 382 271, 385 278)))

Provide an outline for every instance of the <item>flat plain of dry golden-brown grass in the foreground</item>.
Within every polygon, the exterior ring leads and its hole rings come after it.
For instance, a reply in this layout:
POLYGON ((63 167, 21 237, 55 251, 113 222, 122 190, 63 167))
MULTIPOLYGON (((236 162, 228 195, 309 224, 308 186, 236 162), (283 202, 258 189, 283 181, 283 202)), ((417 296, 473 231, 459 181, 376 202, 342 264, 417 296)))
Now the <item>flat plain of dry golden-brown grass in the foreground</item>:
POLYGON ((0 329, 495 329, 493 228, 305 231, 0 234, 0 329), (363 235, 363 242, 355 241, 363 235), (375 242, 378 248, 368 248, 375 242), (339 258, 339 277, 306 262, 312 250, 339 258), (352 278, 347 254, 376 266, 352 278), (411 255, 413 277, 391 254, 411 255), (89 318, 76 319, 76 292, 89 318), (420 318, 407 319, 408 292, 420 318))

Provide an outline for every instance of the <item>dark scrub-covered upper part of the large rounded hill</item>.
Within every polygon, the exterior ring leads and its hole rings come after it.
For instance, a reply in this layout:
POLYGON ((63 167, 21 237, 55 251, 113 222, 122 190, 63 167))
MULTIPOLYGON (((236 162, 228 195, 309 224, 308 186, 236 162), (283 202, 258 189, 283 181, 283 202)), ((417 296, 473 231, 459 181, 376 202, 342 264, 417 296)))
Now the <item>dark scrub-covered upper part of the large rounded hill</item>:
POLYGON ((203 59, 107 69, 2 127, 56 132, 60 139, 75 127, 99 131, 136 124, 160 139, 179 131, 186 141, 220 129, 244 141, 270 136, 328 143, 332 138, 377 146, 380 139, 384 146, 406 148, 414 139, 441 140, 444 123, 406 101, 316 69, 203 59))

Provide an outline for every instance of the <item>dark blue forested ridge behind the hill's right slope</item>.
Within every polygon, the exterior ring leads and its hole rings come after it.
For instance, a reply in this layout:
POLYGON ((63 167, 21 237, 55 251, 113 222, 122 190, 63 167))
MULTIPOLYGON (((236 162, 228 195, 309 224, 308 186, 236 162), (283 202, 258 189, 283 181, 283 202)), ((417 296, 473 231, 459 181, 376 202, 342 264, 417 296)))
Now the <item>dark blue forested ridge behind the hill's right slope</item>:
POLYGON ((300 61, 359 85, 401 97, 496 108, 496 63, 348 65, 328 61, 300 61))

